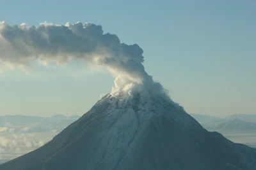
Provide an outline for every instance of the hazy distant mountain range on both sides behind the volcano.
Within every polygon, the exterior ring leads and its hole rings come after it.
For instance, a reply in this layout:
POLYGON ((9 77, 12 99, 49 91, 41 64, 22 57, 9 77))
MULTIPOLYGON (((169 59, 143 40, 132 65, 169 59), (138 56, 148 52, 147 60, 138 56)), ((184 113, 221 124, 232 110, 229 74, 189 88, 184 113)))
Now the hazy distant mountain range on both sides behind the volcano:
MULTIPOLYGON (((251 123, 256 124, 256 115, 234 114, 225 118, 208 115, 189 114, 208 130, 252 130, 251 123), (234 122, 236 121, 236 122, 234 122), (236 127, 230 127, 236 123, 236 127), (241 127, 239 125, 241 124, 241 127)), ((25 115, 0 116, 0 133, 3 132, 61 132, 65 127, 75 122, 81 116, 53 115, 52 117, 35 117, 25 115)), ((256 129, 255 129, 256 130, 256 129)))

